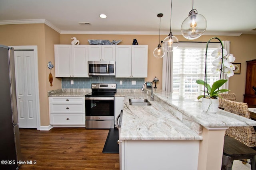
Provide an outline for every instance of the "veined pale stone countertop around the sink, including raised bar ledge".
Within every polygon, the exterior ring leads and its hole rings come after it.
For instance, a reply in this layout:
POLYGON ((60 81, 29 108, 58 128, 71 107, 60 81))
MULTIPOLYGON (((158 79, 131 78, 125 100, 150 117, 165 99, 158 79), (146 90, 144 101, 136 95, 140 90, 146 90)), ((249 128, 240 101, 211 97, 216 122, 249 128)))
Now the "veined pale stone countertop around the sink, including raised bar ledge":
MULTIPOLYGON (((151 90, 146 89, 150 95, 151 90)), ((141 90, 118 90, 124 96, 120 139, 122 140, 202 140, 206 129, 229 126, 256 126, 256 121, 219 109, 203 113, 201 102, 154 89, 154 101, 141 90), (129 98, 146 98, 152 106, 131 106, 129 98), (177 118, 178 117, 178 118, 177 118)))

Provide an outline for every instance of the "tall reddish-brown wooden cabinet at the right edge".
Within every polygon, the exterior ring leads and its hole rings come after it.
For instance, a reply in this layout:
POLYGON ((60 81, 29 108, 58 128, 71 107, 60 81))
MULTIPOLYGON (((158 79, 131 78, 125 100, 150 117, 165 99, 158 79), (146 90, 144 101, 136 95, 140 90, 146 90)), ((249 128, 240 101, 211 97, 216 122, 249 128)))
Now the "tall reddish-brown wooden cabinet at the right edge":
POLYGON ((244 102, 250 105, 256 105, 256 59, 246 61, 246 85, 244 102), (255 89, 253 89, 253 86, 255 89))

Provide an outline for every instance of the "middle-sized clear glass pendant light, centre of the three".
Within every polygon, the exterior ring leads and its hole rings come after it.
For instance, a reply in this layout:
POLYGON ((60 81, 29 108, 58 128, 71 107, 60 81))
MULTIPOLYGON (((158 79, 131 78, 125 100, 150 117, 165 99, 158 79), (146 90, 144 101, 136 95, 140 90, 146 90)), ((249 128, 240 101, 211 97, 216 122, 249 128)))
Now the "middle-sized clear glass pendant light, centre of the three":
POLYGON ((179 45, 178 38, 172 35, 172 0, 171 0, 171 21, 170 21, 170 34, 164 39, 163 47, 167 52, 174 51, 179 45))

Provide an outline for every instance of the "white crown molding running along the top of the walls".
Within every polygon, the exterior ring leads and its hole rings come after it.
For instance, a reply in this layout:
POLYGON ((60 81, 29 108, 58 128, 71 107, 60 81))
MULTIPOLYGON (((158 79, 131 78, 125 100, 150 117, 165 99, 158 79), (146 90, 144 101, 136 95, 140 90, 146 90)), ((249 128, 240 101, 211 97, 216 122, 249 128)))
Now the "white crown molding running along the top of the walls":
MULTIPOLYGON (((26 23, 44 23, 57 31, 60 34, 112 34, 112 35, 159 35, 158 31, 61 31, 45 19, 40 20, 6 20, 0 21, 0 25, 8 25, 8 24, 26 24, 26 23)), ((170 32, 161 32, 161 35, 169 35, 170 32)), ((181 35, 180 31, 172 31, 174 35, 181 35)), ((242 33, 224 33, 224 32, 214 32, 214 31, 205 31, 204 35, 222 35, 222 36, 235 36, 239 37, 242 33)))

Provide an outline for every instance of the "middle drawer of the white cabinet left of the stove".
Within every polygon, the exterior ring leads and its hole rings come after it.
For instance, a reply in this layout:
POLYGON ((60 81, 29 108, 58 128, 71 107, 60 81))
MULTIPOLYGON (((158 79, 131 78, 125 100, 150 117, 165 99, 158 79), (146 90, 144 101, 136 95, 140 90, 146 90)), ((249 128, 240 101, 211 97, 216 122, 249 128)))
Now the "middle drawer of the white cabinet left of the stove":
POLYGON ((85 113, 85 104, 50 103, 50 113, 85 113))

